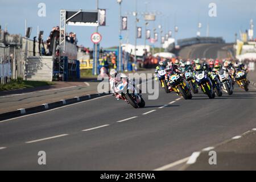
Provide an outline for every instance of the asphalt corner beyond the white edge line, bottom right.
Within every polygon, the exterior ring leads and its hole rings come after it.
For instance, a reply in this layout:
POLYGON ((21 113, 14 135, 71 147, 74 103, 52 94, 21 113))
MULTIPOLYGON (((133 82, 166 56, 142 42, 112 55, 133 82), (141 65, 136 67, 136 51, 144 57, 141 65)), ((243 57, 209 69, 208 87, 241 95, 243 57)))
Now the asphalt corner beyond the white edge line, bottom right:
MULTIPOLYGON (((214 147, 203 151, 196 162, 185 165, 185 170, 256 170, 256 129, 247 131, 214 147), (209 152, 216 152, 216 163, 209 164, 209 152)), ((210 159, 210 162, 213 160, 210 159)))

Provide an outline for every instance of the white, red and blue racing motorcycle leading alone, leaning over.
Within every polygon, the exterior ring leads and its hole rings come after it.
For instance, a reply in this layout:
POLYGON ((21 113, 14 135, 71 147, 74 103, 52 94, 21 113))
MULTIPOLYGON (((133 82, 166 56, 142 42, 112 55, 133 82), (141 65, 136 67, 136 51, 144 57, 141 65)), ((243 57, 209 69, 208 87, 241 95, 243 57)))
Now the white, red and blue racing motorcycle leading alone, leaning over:
POLYGON ((123 77, 122 80, 114 87, 115 93, 118 93, 122 100, 126 101, 134 108, 144 107, 145 101, 140 93, 135 89, 134 82, 127 82, 127 77, 123 77))

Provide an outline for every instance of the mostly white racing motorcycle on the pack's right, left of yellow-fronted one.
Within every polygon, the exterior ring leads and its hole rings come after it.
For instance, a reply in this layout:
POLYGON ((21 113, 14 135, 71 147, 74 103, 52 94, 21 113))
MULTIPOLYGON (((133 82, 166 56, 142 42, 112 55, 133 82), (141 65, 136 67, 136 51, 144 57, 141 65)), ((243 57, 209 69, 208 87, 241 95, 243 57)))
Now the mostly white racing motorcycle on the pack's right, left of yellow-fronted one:
POLYGON ((229 76, 228 71, 226 71, 225 69, 221 69, 218 72, 218 75, 220 76, 222 89, 229 95, 232 95, 233 94, 233 85, 232 85, 233 81, 232 81, 232 78, 229 76))

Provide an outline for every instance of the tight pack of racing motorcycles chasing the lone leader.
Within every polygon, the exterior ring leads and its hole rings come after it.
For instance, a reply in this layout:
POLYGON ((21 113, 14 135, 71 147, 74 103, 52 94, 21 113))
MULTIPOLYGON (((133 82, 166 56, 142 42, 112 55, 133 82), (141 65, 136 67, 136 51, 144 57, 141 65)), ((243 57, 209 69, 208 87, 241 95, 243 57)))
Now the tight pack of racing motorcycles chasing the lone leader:
POLYGON ((249 85, 246 72, 242 70, 232 74, 226 69, 220 69, 217 72, 188 69, 181 74, 176 73, 168 76, 166 69, 159 69, 157 77, 166 93, 170 93, 173 90, 185 100, 191 99, 191 91, 196 94, 199 92, 199 88, 212 99, 215 97, 215 94, 221 97, 222 90, 229 95, 233 94, 235 82, 246 92, 249 85))

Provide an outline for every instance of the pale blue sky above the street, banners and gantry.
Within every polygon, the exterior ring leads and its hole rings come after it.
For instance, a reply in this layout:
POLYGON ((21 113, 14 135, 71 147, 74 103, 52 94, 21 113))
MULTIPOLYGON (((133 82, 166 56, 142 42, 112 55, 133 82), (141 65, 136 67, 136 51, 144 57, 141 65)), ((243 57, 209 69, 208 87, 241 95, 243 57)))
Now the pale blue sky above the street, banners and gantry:
MULTIPOLYGON (((234 41, 234 34, 239 30, 245 31, 249 28, 250 18, 256 24, 256 0, 137 0, 138 12, 144 12, 145 2, 148 2, 148 11, 159 11, 162 15, 156 17, 156 21, 150 22, 148 28, 152 30, 158 24, 162 24, 164 32, 174 30, 174 24, 179 27, 176 38, 191 38, 196 36, 197 23, 202 23, 201 36, 207 32, 207 22, 209 23, 210 36, 222 36, 226 42, 234 41), (209 17, 209 3, 216 3, 217 17, 209 17)), ((60 22, 60 9, 67 10, 95 10, 96 0, 0 0, 0 24, 11 34, 24 35, 24 20, 33 27, 32 36, 37 34, 37 26, 44 30, 46 40, 49 31, 60 22), (38 4, 46 4, 46 17, 38 16, 38 4)), ((100 27, 102 34, 102 47, 118 45, 118 13, 119 6, 117 0, 99 0, 99 7, 107 9, 107 26, 100 27)), ((135 0, 123 0, 122 14, 135 10, 135 0)), ((142 16, 139 17, 138 26, 143 26, 142 16)), ((254 26, 255 27, 255 26, 254 26)), ((128 31, 123 31, 123 37, 134 43, 134 17, 129 15, 128 31)), ((90 35, 96 30, 95 27, 72 27, 67 31, 76 32, 79 44, 92 47, 90 35)), ((255 30, 255 28, 254 28, 255 30)), ((254 33, 255 34, 255 33, 254 33)), ((144 36, 144 35, 143 35, 144 36)), ((152 36, 152 35, 151 35, 152 36)), ((127 40, 126 39, 126 40, 127 40)), ((125 41, 125 40, 123 40, 125 41)), ((144 39, 138 39, 138 44, 144 44, 144 39)), ((155 46, 159 46, 156 43, 155 46)))

